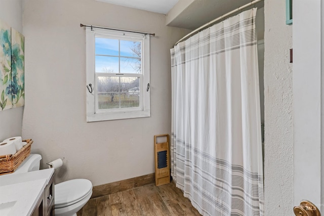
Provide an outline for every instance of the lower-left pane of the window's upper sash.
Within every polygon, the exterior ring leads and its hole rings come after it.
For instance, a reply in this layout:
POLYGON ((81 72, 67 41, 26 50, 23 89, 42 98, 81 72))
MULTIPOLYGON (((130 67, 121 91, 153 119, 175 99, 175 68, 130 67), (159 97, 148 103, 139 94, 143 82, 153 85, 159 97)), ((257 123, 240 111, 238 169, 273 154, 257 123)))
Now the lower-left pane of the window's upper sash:
POLYGON ((96 56, 96 73, 118 73, 118 57, 96 56))

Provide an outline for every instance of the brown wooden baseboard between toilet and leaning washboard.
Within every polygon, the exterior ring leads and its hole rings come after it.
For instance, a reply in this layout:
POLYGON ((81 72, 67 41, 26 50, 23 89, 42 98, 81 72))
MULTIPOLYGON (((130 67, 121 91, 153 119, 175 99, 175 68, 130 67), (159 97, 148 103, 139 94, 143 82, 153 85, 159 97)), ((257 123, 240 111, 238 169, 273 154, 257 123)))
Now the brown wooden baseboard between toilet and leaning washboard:
POLYGON ((120 191, 126 191, 143 185, 152 184, 154 182, 155 182, 155 174, 152 173, 145 176, 139 176, 131 179, 94 186, 92 189, 91 198, 105 196, 120 191))

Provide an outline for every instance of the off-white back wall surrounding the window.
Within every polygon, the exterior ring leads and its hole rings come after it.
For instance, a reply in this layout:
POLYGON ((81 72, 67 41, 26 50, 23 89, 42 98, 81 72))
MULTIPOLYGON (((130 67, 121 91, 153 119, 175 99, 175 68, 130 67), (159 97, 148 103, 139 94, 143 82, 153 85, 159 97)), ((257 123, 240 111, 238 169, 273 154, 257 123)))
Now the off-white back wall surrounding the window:
POLYGON ((25 1, 23 136, 42 166, 64 158, 57 182, 94 185, 154 172, 154 135, 171 133, 170 48, 188 30, 166 16, 95 0, 25 1), (86 122, 86 32, 79 24, 155 33, 150 44, 151 117, 86 122))

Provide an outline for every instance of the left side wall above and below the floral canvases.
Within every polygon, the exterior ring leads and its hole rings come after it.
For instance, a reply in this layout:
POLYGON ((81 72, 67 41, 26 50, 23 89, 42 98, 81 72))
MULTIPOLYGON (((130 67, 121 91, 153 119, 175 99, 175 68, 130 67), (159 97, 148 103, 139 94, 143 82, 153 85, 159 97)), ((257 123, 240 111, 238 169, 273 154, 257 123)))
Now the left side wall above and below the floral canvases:
MULTIPOLYGON (((22 33, 22 0, 1 0, 0 19, 22 33)), ((21 136, 24 107, 0 111, 0 141, 21 136)))

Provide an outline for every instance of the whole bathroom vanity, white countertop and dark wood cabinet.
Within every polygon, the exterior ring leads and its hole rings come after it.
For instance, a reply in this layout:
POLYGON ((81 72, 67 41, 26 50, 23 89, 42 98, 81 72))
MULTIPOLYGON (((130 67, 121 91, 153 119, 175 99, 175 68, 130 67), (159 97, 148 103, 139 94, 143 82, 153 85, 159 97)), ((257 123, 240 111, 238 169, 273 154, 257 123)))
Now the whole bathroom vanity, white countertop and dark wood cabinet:
POLYGON ((54 215, 54 169, 0 176, 0 215, 54 215))

